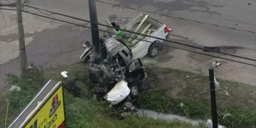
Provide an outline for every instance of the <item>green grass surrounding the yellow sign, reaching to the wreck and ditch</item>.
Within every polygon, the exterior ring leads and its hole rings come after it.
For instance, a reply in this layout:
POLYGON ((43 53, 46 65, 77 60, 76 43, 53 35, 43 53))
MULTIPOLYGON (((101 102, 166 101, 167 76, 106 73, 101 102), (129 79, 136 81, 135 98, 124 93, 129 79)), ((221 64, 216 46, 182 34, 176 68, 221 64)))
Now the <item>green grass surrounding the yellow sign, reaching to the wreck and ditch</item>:
MULTIPOLYGON (((33 77, 29 80, 21 80, 14 75, 9 75, 9 84, 18 85, 21 87, 20 92, 4 92, 1 93, 0 104, 0 127, 4 127, 4 117, 6 112, 6 102, 4 99, 9 99, 9 116, 7 124, 18 115, 19 112, 27 105, 31 98, 36 95, 44 82, 48 79, 62 80, 60 72, 67 70, 69 76, 78 77, 76 85, 82 89, 82 97, 73 97, 64 90, 65 97, 65 115, 67 127, 203 127, 203 125, 192 126, 186 122, 153 119, 149 117, 137 117, 135 115, 127 116, 120 119, 119 114, 110 109, 107 102, 97 102, 92 98, 87 86, 88 69, 87 66, 77 63, 70 66, 62 66, 58 68, 48 68, 44 70, 43 79, 33 77), (39 81, 39 82, 38 82, 39 81)), ((36 76, 36 75, 35 75, 36 76)), ((40 76, 40 75, 38 75, 40 76)))

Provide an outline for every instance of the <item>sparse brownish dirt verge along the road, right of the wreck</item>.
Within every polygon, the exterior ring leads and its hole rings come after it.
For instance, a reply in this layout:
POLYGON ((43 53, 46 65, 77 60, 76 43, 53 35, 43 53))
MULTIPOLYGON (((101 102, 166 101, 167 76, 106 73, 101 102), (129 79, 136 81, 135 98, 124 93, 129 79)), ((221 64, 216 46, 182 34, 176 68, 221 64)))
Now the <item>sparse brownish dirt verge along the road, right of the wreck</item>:
MULTIPOLYGON (((209 78, 171 68, 160 68, 150 65, 146 68, 146 90, 167 90, 167 93, 177 99, 193 99, 207 102, 210 105, 209 78)), ((220 82, 217 87, 216 101, 218 107, 238 107, 245 110, 255 110, 256 87, 241 82, 233 82, 216 78, 220 82), (246 87, 245 87, 246 86, 246 87)))

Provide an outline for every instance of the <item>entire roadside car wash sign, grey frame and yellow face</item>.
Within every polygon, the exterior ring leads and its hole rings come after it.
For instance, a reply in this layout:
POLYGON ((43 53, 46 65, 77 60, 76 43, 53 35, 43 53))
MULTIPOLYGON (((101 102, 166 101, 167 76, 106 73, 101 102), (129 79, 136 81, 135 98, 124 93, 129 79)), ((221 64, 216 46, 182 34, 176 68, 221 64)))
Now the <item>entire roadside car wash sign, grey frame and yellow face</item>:
POLYGON ((65 127, 63 82, 49 80, 9 128, 65 127))

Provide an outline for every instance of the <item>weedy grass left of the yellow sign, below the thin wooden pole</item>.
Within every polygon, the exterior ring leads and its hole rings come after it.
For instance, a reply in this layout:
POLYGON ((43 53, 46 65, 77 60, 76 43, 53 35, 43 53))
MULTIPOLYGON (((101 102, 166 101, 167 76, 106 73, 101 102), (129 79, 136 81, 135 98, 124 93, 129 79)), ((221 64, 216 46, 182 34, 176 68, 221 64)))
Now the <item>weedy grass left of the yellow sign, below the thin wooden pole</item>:
POLYGON ((21 91, 4 92, 1 95, 0 104, 0 127, 4 126, 5 115, 6 115, 6 102, 4 100, 9 100, 9 114, 7 118, 7 124, 9 124, 12 119, 14 119, 19 112, 25 107, 28 102, 33 98, 38 90, 43 86, 45 79, 43 77, 43 70, 38 68, 31 68, 28 72, 28 78, 26 80, 18 78, 15 75, 7 75, 7 84, 12 86, 16 85, 21 88, 21 91))

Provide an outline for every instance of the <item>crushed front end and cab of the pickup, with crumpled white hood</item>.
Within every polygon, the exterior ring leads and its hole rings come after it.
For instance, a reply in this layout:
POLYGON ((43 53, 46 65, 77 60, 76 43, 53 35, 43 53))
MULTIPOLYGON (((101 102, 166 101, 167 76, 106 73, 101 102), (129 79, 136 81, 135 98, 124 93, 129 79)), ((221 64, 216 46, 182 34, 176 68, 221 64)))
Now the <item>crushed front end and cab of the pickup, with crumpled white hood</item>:
MULTIPOLYGON (((98 69, 104 74, 103 82, 95 78, 90 80, 95 85, 95 95, 103 95, 111 106, 117 105, 122 110, 134 110, 132 97, 135 97, 142 90, 146 73, 142 62, 138 58, 132 60, 132 52, 123 43, 114 38, 101 38, 102 58, 97 64, 98 69)), ((82 58, 85 62, 92 63, 93 53, 90 43, 85 43, 85 52, 82 58)))

